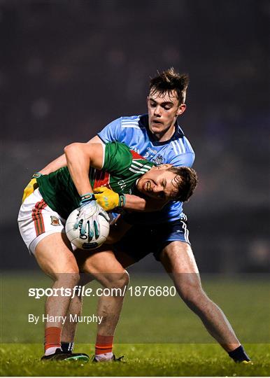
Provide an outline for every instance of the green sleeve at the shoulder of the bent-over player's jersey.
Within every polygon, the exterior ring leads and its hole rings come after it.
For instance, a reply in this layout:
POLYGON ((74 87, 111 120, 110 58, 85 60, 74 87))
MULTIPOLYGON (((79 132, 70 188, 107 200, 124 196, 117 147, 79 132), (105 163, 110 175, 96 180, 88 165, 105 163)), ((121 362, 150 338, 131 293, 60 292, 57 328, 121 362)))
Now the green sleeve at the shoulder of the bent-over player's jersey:
POLYGON ((123 174, 132 164, 132 153, 122 143, 112 142, 105 145, 103 171, 118 176, 123 174))

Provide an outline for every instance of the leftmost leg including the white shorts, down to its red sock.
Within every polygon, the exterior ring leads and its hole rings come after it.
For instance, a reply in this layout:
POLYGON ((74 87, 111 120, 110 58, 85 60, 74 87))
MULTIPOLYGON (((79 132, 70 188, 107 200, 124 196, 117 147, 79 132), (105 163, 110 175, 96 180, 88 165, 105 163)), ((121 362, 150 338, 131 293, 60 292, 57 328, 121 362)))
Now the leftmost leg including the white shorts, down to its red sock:
MULTIPOLYGON (((22 238, 35 255, 43 272, 54 281, 52 288, 57 296, 50 296, 45 305, 45 354, 55 359, 65 359, 60 349, 62 323, 66 316, 71 295, 61 289, 72 289, 78 283, 78 265, 71 252, 71 245, 64 234, 62 218, 43 201, 38 189, 23 202, 18 216, 22 238)), ((74 356, 73 356, 74 357, 74 356)))

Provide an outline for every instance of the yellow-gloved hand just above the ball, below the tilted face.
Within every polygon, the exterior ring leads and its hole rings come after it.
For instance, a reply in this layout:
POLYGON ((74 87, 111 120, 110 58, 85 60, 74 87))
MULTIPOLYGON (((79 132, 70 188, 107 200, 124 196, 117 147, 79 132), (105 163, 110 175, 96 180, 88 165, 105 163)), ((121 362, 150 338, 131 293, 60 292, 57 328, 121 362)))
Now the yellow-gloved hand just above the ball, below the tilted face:
POLYGON ((113 190, 106 188, 106 186, 95 188, 94 197, 96 197, 97 203, 106 211, 113 210, 115 207, 124 207, 126 203, 124 194, 115 193, 113 190))

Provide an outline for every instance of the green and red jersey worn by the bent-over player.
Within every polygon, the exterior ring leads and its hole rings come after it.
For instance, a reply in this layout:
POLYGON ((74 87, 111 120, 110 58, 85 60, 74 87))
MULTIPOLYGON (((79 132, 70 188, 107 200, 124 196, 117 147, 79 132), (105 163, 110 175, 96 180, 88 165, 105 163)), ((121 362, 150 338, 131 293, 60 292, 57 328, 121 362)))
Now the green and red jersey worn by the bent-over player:
MULTIPOLYGON (((106 186, 116 193, 132 194, 136 188, 136 181, 153 165, 138 153, 129 150, 125 144, 107 143, 102 169, 90 168, 90 183, 93 189, 106 186)), ((43 200, 64 219, 79 207, 80 195, 71 179, 68 167, 41 176, 37 182, 43 200)))

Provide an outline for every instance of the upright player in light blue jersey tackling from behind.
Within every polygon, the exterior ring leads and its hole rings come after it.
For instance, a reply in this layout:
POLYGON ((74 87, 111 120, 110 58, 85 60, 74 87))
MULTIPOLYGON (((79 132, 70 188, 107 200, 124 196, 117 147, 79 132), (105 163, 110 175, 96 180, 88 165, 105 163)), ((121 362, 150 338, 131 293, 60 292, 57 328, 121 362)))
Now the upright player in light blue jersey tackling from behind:
MULTIPOLYGON (((174 69, 158 73, 150 80, 148 114, 118 118, 104 127, 104 130, 101 130, 89 143, 120 141, 157 165, 169 163, 179 167, 191 167, 194 162, 194 151, 177 122, 178 116, 181 116, 186 109, 187 85, 187 75, 178 74, 174 69)), ((45 167, 41 173, 47 174, 64 165, 66 160, 62 156, 45 167)), ((149 183, 149 192, 152 189, 152 183, 149 183)), ((118 195, 110 190, 101 189, 96 197, 97 202, 106 210, 118 207, 118 195), (104 196, 108 199, 106 206, 104 196)), ((131 204, 133 208, 135 206, 136 212, 122 216, 117 225, 112 227, 112 234, 120 239, 113 245, 118 261, 123 267, 127 267, 141 260, 148 253, 153 253, 170 274, 180 297, 201 318, 206 330, 236 362, 248 363, 250 358, 234 334, 225 314, 208 298, 201 287, 199 270, 189 241, 183 204, 179 201, 157 204, 155 199, 149 199, 146 200, 145 205, 142 198, 135 199, 133 195, 125 195, 125 207, 129 209, 131 204), (140 211, 145 209, 148 214, 142 216, 140 211), (155 214, 151 210, 155 210, 155 214), (125 235, 122 236, 124 233, 125 235), (140 239, 137 235, 140 235, 140 239), (143 248, 141 239, 146 241, 143 248)), ((102 255, 98 253, 85 262, 85 269, 88 272, 97 267, 102 272, 102 266, 102 255)), ((110 297, 102 298, 99 309, 106 307, 106 301, 110 302, 110 300, 110 297)), ((75 311, 74 307, 73 311, 75 311)), ((63 348, 68 342, 73 341, 72 326, 66 325, 62 332, 62 340, 66 342, 63 343, 63 348)), ((105 348, 106 344, 112 344, 113 331, 109 326, 106 327, 106 324, 98 329, 97 344, 101 349, 105 348)), ((111 358, 109 356, 111 354, 108 354, 108 359, 111 358)), ((106 359, 105 355, 103 357, 106 359)))

